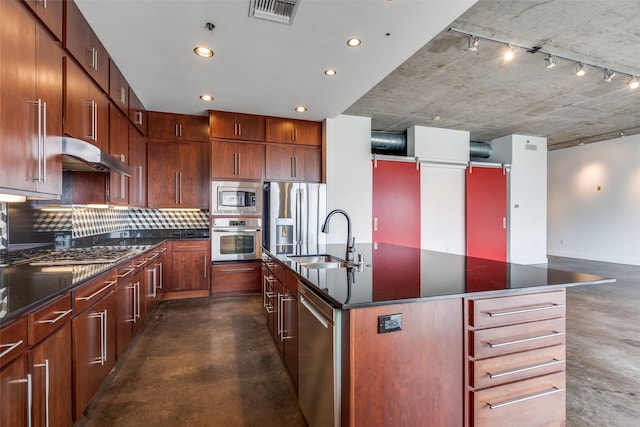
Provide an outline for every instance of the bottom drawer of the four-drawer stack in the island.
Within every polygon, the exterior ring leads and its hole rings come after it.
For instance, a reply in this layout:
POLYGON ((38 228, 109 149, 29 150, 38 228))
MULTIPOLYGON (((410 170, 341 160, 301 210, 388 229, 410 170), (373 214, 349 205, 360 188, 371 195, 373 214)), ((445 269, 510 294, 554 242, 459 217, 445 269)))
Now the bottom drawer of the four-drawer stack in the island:
POLYGON ((471 392, 472 425, 564 425, 565 374, 557 373, 471 392))

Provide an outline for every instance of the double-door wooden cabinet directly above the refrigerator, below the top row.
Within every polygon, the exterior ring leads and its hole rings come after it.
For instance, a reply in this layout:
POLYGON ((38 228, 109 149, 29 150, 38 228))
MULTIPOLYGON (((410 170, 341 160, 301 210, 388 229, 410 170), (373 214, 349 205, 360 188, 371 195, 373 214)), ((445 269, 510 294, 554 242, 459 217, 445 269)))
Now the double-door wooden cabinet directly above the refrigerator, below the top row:
POLYGON ((319 148, 267 145, 267 181, 320 182, 322 151, 319 148))

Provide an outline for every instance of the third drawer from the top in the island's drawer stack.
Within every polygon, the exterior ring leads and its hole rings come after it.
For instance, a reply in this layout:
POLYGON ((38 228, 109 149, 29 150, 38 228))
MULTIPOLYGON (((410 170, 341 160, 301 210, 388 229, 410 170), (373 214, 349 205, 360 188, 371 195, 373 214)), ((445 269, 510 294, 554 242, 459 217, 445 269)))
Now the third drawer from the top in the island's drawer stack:
POLYGON ((552 347, 469 362, 469 385, 476 389, 565 370, 565 347, 552 347))

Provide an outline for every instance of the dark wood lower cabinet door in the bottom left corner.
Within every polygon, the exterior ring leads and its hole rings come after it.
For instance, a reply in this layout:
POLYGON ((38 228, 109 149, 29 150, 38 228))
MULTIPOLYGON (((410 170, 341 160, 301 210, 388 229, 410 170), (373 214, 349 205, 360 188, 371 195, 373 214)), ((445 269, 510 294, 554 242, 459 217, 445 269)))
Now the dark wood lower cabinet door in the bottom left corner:
MULTIPOLYGON (((2 1, 1 3, 6 3, 2 1)), ((27 426, 29 380, 24 356, 0 370, 0 425, 27 426)))

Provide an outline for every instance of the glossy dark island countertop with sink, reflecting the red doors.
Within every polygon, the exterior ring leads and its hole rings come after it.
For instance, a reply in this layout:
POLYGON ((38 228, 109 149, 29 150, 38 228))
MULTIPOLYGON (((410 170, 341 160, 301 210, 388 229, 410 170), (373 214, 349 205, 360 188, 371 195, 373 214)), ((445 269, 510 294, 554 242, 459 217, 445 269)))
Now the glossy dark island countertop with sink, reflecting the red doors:
MULTIPOLYGON (((307 269, 288 255, 330 254, 345 258, 344 245, 319 245, 278 253, 274 258, 293 269, 337 308, 349 309, 422 299, 458 298, 614 282, 591 274, 521 265, 450 253, 378 244, 356 244, 364 268, 307 269), (294 253, 296 252, 296 253, 294 253)), ((356 256, 357 260, 357 256, 356 256)))

